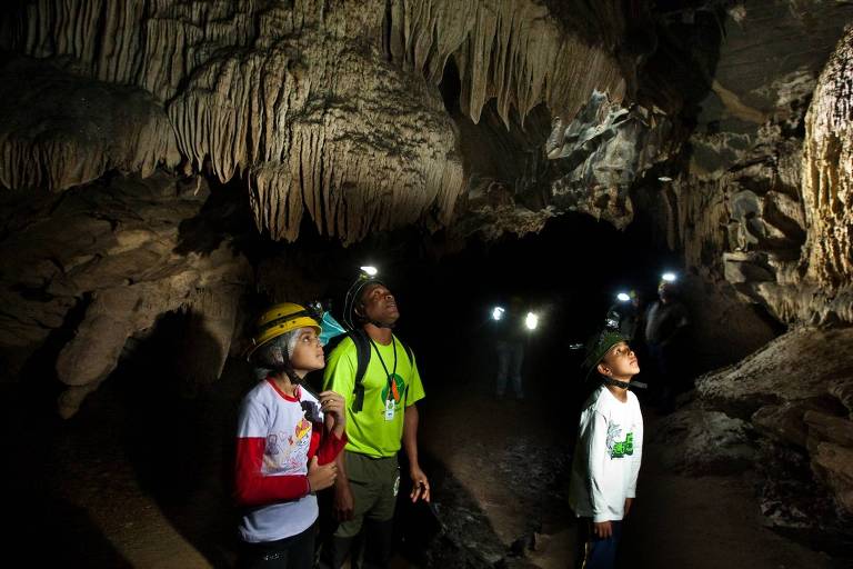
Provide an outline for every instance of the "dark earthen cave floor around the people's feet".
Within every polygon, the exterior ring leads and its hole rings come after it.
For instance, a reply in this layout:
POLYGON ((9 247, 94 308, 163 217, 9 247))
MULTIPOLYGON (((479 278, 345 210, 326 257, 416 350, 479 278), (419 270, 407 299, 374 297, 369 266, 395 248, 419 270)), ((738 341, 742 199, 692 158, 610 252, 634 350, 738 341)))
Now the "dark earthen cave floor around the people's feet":
MULTIPOLYGON (((0 386, 9 555, 81 567, 230 567, 235 520, 223 488, 243 371, 230 363, 218 389, 195 399, 108 381, 66 422, 0 386)), ((572 415, 554 393, 494 401, 464 385, 430 393, 421 438, 433 509, 413 511, 434 512, 443 526, 434 566, 464 557, 469 567, 571 567, 563 480, 572 415)), ((689 478, 646 457, 620 567, 845 566, 762 526, 749 477, 689 478)), ((404 543, 417 543, 417 531, 404 543)))

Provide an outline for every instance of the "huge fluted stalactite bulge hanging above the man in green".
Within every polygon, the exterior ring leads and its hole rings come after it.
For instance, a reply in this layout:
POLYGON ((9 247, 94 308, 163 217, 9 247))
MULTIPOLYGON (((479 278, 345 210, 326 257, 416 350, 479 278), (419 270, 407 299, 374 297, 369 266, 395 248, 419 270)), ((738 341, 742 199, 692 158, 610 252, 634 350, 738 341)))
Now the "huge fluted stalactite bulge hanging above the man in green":
POLYGON ((40 0, 3 44, 153 93, 197 171, 247 179, 272 238, 295 239, 307 211, 353 242, 428 216, 449 221, 463 187, 438 91, 373 44, 383 13, 379 0, 40 0))

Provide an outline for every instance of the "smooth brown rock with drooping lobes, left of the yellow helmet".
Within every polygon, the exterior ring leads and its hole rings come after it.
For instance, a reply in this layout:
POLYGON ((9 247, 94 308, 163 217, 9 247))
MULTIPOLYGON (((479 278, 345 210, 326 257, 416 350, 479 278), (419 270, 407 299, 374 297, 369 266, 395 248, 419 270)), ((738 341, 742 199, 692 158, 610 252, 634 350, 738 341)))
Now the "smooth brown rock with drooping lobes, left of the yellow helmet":
POLYGON ((14 211, 27 216, 4 219, 0 240, 7 372, 32 365, 49 335, 72 331, 56 363, 69 386, 60 413, 70 417, 112 372, 130 337, 149 332, 165 312, 187 311, 184 379, 217 379, 249 270, 228 239, 197 248, 182 224, 200 217, 208 196, 201 179, 154 174, 20 198, 14 211))

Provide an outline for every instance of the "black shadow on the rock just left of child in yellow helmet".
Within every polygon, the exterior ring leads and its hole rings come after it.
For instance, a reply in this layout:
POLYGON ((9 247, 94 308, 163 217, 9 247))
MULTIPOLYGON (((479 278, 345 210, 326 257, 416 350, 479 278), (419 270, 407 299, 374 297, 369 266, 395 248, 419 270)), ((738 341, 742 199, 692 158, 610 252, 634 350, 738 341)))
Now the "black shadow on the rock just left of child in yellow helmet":
MULTIPOLYGON (((213 386, 187 386, 175 370, 188 346, 208 345, 199 329, 188 327, 189 317, 162 316, 143 339, 131 339, 124 358, 102 388, 112 399, 120 425, 114 441, 127 455, 133 480, 150 496, 169 523, 212 567, 233 563, 237 511, 230 499, 233 438, 241 371, 227 368, 213 386), (193 393, 187 397, 185 393, 193 393)), ((200 353, 205 353, 204 348, 200 353)), ((239 362, 238 362, 239 367, 239 362)))

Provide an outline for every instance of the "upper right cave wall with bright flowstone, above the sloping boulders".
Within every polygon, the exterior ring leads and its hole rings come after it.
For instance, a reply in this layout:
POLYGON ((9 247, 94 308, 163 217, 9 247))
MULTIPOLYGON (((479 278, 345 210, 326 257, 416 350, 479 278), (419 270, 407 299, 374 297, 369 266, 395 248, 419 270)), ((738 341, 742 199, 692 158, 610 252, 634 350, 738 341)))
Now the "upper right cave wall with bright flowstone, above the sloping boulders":
POLYGON ((846 168, 851 17, 823 2, 725 11, 683 166, 641 190, 663 202, 660 224, 690 270, 786 325, 853 319, 842 260, 851 202, 834 183, 846 168))

